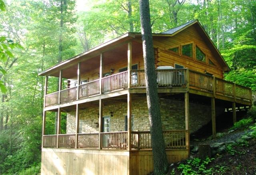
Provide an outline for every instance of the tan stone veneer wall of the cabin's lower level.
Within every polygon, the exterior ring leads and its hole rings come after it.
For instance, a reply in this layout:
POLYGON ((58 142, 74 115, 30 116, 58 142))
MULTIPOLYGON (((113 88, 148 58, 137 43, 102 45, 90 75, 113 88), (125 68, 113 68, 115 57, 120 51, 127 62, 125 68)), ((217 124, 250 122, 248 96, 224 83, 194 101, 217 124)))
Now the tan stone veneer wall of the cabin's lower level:
MULTIPOLYGON (((211 120, 211 106, 190 102, 190 133, 197 131, 211 120)), ((82 133, 97 133, 98 107, 90 107, 80 111, 82 133)), ((160 98, 160 112, 163 130, 185 129, 185 107, 182 99, 160 98)), ((127 114, 127 103, 114 103, 103 107, 103 116, 110 117, 110 132, 124 131, 124 116, 127 114)), ((216 114, 218 115, 216 110, 216 114)), ((134 115, 134 131, 149 131, 148 107, 146 97, 132 99, 134 115)), ((67 115, 67 133, 75 133, 75 112, 67 115)), ((80 126, 81 127, 81 126, 80 126)))

